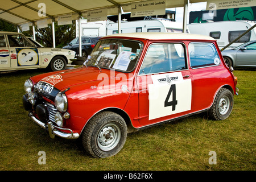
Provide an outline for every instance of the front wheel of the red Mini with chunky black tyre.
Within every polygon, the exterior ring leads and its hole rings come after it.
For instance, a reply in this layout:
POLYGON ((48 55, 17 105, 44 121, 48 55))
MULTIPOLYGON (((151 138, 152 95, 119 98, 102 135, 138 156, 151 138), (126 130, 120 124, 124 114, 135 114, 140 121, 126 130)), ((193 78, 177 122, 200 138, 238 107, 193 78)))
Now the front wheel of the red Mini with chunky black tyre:
POLYGON ((81 137, 86 152, 95 158, 107 158, 122 149, 127 137, 127 126, 120 115, 102 111, 90 119, 81 137))

